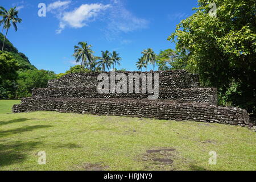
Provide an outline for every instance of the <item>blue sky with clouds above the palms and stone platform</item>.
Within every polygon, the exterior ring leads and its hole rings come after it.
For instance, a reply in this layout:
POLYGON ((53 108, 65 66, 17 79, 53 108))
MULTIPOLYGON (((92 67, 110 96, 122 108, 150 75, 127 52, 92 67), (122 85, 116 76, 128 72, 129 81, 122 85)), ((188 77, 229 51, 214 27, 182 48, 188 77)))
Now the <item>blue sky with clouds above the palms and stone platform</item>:
POLYGON ((118 68, 135 71, 143 49, 175 48, 168 36, 197 7, 196 0, 0 1, 5 9, 16 6, 23 19, 7 38, 36 68, 55 73, 75 65, 73 46, 81 41, 91 44, 97 56, 117 51, 122 57, 118 68), (38 16, 39 3, 46 4, 46 17, 38 16))

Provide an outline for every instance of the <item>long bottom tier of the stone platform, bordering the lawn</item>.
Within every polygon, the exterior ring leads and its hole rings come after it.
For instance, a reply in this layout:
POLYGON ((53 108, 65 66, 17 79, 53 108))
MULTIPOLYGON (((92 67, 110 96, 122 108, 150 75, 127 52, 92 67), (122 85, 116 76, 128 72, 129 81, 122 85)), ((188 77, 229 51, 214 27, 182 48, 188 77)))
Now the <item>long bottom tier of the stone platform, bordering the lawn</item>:
POLYGON ((30 97, 24 98, 22 104, 13 106, 14 113, 25 111, 121 115, 176 121, 217 122, 253 127, 246 110, 199 102, 30 97))

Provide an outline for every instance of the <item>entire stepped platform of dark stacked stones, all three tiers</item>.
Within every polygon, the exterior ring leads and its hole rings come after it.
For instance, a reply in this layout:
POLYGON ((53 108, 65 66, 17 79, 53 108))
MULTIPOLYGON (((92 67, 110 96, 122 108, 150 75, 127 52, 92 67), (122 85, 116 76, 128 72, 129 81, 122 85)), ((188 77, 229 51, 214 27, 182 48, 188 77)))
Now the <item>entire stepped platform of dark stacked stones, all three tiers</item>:
POLYGON ((246 110, 217 106, 217 89, 200 87, 197 75, 186 71, 143 73, 159 74, 158 100, 147 100, 150 94, 142 93, 100 94, 99 73, 75 73, 49 80, 48 88, 33 89, 32 97, 23 98, 20 105, 13 106, 13 111, 46 110, 253 126, 246 110))

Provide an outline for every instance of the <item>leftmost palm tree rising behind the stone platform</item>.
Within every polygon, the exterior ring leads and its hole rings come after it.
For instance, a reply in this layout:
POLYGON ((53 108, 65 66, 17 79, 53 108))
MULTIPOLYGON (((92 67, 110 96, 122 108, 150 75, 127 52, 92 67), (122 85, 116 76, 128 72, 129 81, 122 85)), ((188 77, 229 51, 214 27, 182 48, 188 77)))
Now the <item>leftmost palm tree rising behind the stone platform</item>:
POLYGON ((86 68, 89 69, 90 63, 94 60, 93 51, 91 49, 91 45, 88 45, 86 42, 79 42, 79 46, 74 46, 75 53, 73 56, 76 58, 76 63, 79 63, 81 60, 82 63, 85 64, 86 68), (87 62, 88 61, 88 62, 87 62))

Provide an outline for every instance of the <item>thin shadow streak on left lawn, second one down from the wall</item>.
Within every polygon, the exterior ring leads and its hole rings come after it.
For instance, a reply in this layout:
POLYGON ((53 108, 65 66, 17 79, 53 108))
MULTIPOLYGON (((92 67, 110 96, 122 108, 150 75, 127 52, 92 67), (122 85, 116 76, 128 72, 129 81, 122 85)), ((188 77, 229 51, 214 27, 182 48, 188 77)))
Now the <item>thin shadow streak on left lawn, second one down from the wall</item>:
POLYGON ((8 135, 13 135, 13 134, 20 134, 20 133, 23 133, 26 131, 32 131, 35 129, 44 129, 47 127, 52 127, 52 126, 51 125, 23 126, 18 129, 0 131, 0 137, 6 137, 8 135))

